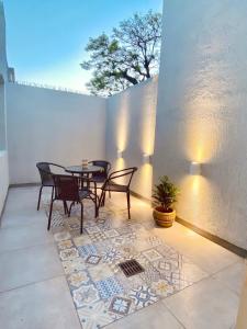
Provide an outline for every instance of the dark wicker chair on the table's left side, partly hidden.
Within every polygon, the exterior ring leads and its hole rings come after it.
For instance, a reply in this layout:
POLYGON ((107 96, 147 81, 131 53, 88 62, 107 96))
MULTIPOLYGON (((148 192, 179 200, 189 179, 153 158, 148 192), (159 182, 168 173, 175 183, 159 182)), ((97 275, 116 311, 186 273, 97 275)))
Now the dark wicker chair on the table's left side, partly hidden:
POLYGON ((52 163, 52 162, 37 162, 36 167, 38 169, 40 175, 41 175, 41 189, 38 193, 38 201, 37 201, 37 211, 40 211, 40 204, 41 204, 41 196, 42 196, 42 190, 43 188, 52 188, 52 197, 54 193, 54 180, 53 180, 53 173, 50 171, 50 167, 65 169, 63 166, 52 163))

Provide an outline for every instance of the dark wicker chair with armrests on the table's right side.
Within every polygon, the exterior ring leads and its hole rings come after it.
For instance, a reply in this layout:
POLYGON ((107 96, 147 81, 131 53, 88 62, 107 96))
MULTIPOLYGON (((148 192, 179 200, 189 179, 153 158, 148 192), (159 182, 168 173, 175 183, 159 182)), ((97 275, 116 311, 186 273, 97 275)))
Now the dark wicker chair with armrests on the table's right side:
POLYGON ((126 193, 127 196, 127 213, 128 213, 128 219, 131 219, 131 182, 133 179, 133 175, 135 171, 137 170, 136 167, 132 168, 126 168, 122 170, 117 170, 112 172, 109 178, 105 180, 103 185, 101 186, 101 196, 99 201, 99 207, 104 205, 105 201, 105 193, 106 192, 121 192, 121 193, 126 193), (115 180, 120 178, 125 178, 126 184, 119 184, 115 182, 115 180))

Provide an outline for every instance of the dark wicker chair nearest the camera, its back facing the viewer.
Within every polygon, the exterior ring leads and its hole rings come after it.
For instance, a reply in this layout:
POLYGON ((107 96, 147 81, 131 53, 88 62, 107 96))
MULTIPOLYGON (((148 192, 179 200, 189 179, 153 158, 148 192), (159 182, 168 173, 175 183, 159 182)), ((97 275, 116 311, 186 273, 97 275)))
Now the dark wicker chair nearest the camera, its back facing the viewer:
POLYGON ((67 174, 53 174, 55 194, 53 194, 50 206, 49 206, 49 216, 48 216, 48 226, 47 229, 50 228, 52 223, 52 214, 53 214, 53 203, 57 200, 63 201, 64 205, 66 205, 66 213, 68 217, 70 216, 71 207, 75 203, 80 203, 81 205, 81 216, 80 216, 80 234, 82 234, 83 229, 83 203, 85 198, 91 198, 96 205, 94 217, 98 216, 98 206, 97 206, 97 194, 96 194, 96 183, 94 183, 94 192, 91 190, 83 188, 80 190, 80 181, 78 177, 67 175, 67 174), (69 208, 67 207, 67 202, 71 202, 69 208))

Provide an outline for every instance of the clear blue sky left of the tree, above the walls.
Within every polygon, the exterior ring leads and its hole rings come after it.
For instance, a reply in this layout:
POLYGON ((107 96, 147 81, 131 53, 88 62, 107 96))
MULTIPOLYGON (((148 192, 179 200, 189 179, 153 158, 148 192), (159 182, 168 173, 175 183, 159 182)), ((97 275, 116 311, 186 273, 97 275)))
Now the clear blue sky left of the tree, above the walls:
POLYGON ((89 37, 110 34, 119 22, 149 9, 161 12, 162 0, 3 0, 8 64, 19 81, 88 92, 89 37))

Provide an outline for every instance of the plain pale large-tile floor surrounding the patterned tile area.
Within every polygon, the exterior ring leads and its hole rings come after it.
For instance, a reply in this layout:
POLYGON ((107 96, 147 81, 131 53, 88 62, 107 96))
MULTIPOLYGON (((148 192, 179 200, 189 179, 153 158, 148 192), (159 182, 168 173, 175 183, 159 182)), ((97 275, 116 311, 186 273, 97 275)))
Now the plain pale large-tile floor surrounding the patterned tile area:
MULTIPOLYGON (((0 328, 81 328, 43 209, 37 188, 10 189, 0 229, 0 328)), ((125 200, 113 196, 125 207, 125 200)), ((132 198, 133 220, 151 209, 132 198)), ((234 328, 246 271, 243 259, 176 223, 154 228, 167 245, 199 265, 206 276, 183 291, 108 328, 234 328)))

